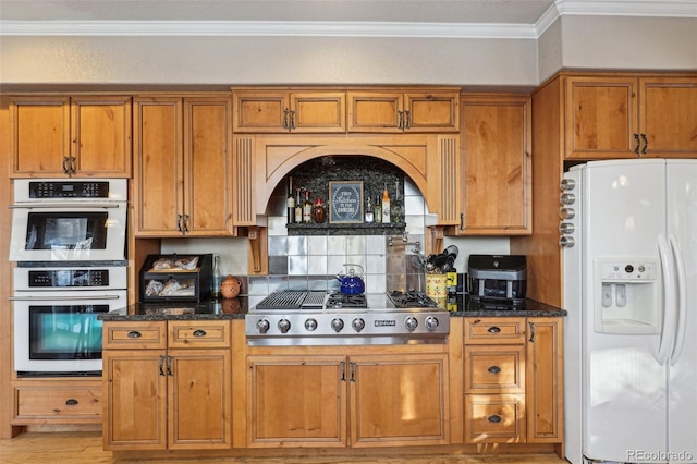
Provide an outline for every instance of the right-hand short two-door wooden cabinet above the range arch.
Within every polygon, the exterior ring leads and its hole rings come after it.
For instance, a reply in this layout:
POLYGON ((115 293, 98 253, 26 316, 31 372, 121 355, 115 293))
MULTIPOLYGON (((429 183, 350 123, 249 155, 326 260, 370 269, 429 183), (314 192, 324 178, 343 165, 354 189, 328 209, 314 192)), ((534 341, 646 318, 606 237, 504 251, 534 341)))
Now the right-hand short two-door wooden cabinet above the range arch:
POLYGON ((460 131, 458 89, 375 89, 347 93, 348 132, 460 131))

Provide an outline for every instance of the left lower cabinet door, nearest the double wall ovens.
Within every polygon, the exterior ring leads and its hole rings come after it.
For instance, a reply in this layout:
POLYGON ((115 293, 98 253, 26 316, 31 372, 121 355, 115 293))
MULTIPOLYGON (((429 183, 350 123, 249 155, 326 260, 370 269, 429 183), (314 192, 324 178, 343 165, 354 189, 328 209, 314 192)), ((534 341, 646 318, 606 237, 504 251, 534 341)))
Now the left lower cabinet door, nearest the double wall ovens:
POLYGON ((105 450, 167 448, 164 350, 105 350, 105 450))

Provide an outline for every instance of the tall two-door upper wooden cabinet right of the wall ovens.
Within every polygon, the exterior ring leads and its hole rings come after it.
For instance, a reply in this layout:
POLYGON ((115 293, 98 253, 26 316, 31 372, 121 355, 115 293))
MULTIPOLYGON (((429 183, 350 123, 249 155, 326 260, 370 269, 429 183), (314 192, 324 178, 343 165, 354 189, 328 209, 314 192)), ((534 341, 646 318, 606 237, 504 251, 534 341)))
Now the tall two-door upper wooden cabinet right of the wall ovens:
POLYGON ((230 98, 137 97, 135 236, 232 236, 230 98))

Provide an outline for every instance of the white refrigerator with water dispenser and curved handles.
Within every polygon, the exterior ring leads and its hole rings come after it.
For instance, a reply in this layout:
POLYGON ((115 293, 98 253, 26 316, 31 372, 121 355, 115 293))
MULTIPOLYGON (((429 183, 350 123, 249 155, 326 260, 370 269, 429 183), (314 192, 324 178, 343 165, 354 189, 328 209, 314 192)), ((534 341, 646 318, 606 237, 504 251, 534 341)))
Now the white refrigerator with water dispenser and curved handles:
POLYGON ((566 459, 697 463, 697 160, 578 164, 560 203, 566 459))

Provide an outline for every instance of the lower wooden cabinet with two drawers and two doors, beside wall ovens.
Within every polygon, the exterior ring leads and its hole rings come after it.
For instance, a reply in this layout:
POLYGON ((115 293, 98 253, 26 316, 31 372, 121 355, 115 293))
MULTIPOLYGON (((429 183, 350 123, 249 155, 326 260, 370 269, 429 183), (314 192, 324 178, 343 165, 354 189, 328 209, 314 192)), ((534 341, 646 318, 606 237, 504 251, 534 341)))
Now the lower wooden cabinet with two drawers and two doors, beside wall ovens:
POLYGON ((231 447, 229 321, 105 322, 106 450, 231 447))

